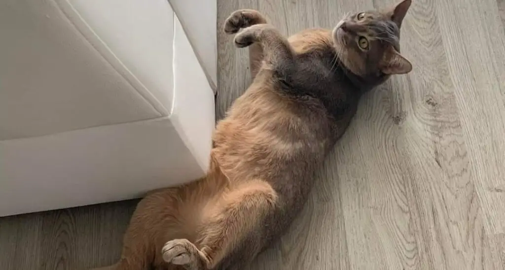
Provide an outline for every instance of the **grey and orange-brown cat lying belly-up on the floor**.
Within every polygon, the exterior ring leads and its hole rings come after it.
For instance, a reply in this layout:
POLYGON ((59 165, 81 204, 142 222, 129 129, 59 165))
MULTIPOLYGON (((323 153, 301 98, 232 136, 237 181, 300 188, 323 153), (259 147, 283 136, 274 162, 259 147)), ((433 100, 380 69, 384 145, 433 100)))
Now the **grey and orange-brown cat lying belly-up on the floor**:
POLYGON ((399 53, 410 5, 348 15, 333 30, 289 39, 258 11, 232 13, 224 31, 249 47, 254 80, 216 126, 207 175, 147 194, 121 259, 107 269, 238 270, 279 239, 360 97, 412 71, 399 53))

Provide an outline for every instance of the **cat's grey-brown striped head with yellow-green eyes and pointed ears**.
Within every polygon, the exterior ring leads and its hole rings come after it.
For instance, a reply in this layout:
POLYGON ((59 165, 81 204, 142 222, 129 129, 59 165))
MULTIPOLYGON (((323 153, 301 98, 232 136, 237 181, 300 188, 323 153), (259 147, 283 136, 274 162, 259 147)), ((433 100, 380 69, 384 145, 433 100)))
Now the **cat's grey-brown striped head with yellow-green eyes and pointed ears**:
POLYGON ((399 54, 400 26, 411 0, 386 11, 345 16, 333 29, 335 50, 352 73, 365 78, 405 74, 412 64, 399 54))

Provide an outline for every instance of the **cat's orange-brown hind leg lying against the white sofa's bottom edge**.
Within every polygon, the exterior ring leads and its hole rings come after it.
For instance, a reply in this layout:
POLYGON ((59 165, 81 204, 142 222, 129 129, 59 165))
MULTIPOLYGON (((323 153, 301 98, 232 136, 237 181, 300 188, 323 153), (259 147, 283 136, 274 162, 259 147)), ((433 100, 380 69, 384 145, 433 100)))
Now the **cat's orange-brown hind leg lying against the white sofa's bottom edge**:
MULTIPOLYGON (((217 185, 217 184, 215 184, 217 185)), ((159 250, 169 239, 196 235, 196 222, 185 213, 194 213, 195 201, 205 199, 199 181, 188 187, 155 190, 140 200, 123 238, 120 260, 95 270, 151 270, 163 262, 159 250), (191 188, 192 187, 192 188, 191 188), (193 190, 195 196, 190 196, 193 190)))

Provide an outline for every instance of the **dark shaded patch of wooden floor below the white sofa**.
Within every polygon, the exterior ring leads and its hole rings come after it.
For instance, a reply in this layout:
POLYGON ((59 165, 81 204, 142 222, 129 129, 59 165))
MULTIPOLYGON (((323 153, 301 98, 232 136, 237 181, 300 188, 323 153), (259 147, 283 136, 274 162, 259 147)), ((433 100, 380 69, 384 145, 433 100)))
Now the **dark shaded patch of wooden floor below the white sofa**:
POLYGON ((117 261, 137 200, 0 219, 0 269, 84 270, 117 261))

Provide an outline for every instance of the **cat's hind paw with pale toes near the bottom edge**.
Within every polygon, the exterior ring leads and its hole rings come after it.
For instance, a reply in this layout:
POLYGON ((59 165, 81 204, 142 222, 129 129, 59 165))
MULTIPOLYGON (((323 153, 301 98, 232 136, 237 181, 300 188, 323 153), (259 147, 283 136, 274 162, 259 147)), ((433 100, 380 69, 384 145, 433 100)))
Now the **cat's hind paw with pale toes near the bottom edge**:
POLYGON ((196 248, 187 239, 168 241, 162 249, 163 260, 177 265, 192 264, 196 260, 196 248))

